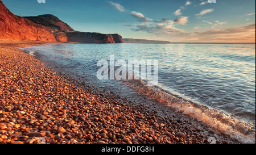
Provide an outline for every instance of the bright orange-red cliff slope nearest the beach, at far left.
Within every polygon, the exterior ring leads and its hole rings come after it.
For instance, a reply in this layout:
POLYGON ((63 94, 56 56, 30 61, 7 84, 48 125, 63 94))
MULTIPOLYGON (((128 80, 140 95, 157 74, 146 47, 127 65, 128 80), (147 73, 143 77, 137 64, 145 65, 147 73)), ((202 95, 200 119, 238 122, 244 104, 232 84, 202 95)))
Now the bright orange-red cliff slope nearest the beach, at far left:
POLYGON ((46 27, 11 13, 0 0, 0 39, 56 41, 46 27))

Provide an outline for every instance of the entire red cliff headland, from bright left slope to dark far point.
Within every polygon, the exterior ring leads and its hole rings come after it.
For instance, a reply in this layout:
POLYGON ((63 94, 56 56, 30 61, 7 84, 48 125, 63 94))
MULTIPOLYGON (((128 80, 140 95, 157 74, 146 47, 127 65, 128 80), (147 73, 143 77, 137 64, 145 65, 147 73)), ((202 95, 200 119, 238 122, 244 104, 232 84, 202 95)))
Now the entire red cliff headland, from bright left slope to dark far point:
POLYGON ((72 41, 78 43, 123 43, 118 34, 77 32, 54 15, 21 17, 0 0, 0 39, 72 41))

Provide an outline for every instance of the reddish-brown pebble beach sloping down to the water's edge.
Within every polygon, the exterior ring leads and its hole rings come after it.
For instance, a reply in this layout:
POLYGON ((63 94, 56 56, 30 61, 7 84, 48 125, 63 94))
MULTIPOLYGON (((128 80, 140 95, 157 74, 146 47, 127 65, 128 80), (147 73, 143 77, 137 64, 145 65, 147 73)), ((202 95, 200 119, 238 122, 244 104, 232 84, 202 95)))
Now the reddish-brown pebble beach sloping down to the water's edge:
POLYGON ((43 44, 53 42, 0 40, 0 143, 239 143, 187 116, 161 116, 161 104, 153 110, 56 73, 18 49, 43 44))

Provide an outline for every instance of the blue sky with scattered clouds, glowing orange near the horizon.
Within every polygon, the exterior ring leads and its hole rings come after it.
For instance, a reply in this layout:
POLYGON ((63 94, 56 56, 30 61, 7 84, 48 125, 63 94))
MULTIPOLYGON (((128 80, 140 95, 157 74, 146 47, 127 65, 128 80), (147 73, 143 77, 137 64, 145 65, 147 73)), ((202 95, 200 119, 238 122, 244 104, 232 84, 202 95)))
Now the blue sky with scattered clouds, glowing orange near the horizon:
POLYGON ((2 0, 16 15, 53 14, 74 30, 123 38, 255 43, 254 0, 2 0))

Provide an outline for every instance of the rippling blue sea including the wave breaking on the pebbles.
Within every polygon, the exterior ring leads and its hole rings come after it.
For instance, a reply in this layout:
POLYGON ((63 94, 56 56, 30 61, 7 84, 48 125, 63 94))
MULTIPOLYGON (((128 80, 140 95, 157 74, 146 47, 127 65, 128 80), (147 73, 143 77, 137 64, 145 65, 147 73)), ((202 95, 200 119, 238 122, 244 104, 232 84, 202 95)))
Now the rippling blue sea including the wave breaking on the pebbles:
POLYGON ((25 51, 105 90, 133 98, 132 89, 241 143, 255 143, 255 44, 52 44, 25 51), (110 56, 158 60, 157 85, 99 80, 97 62, 110 56))

